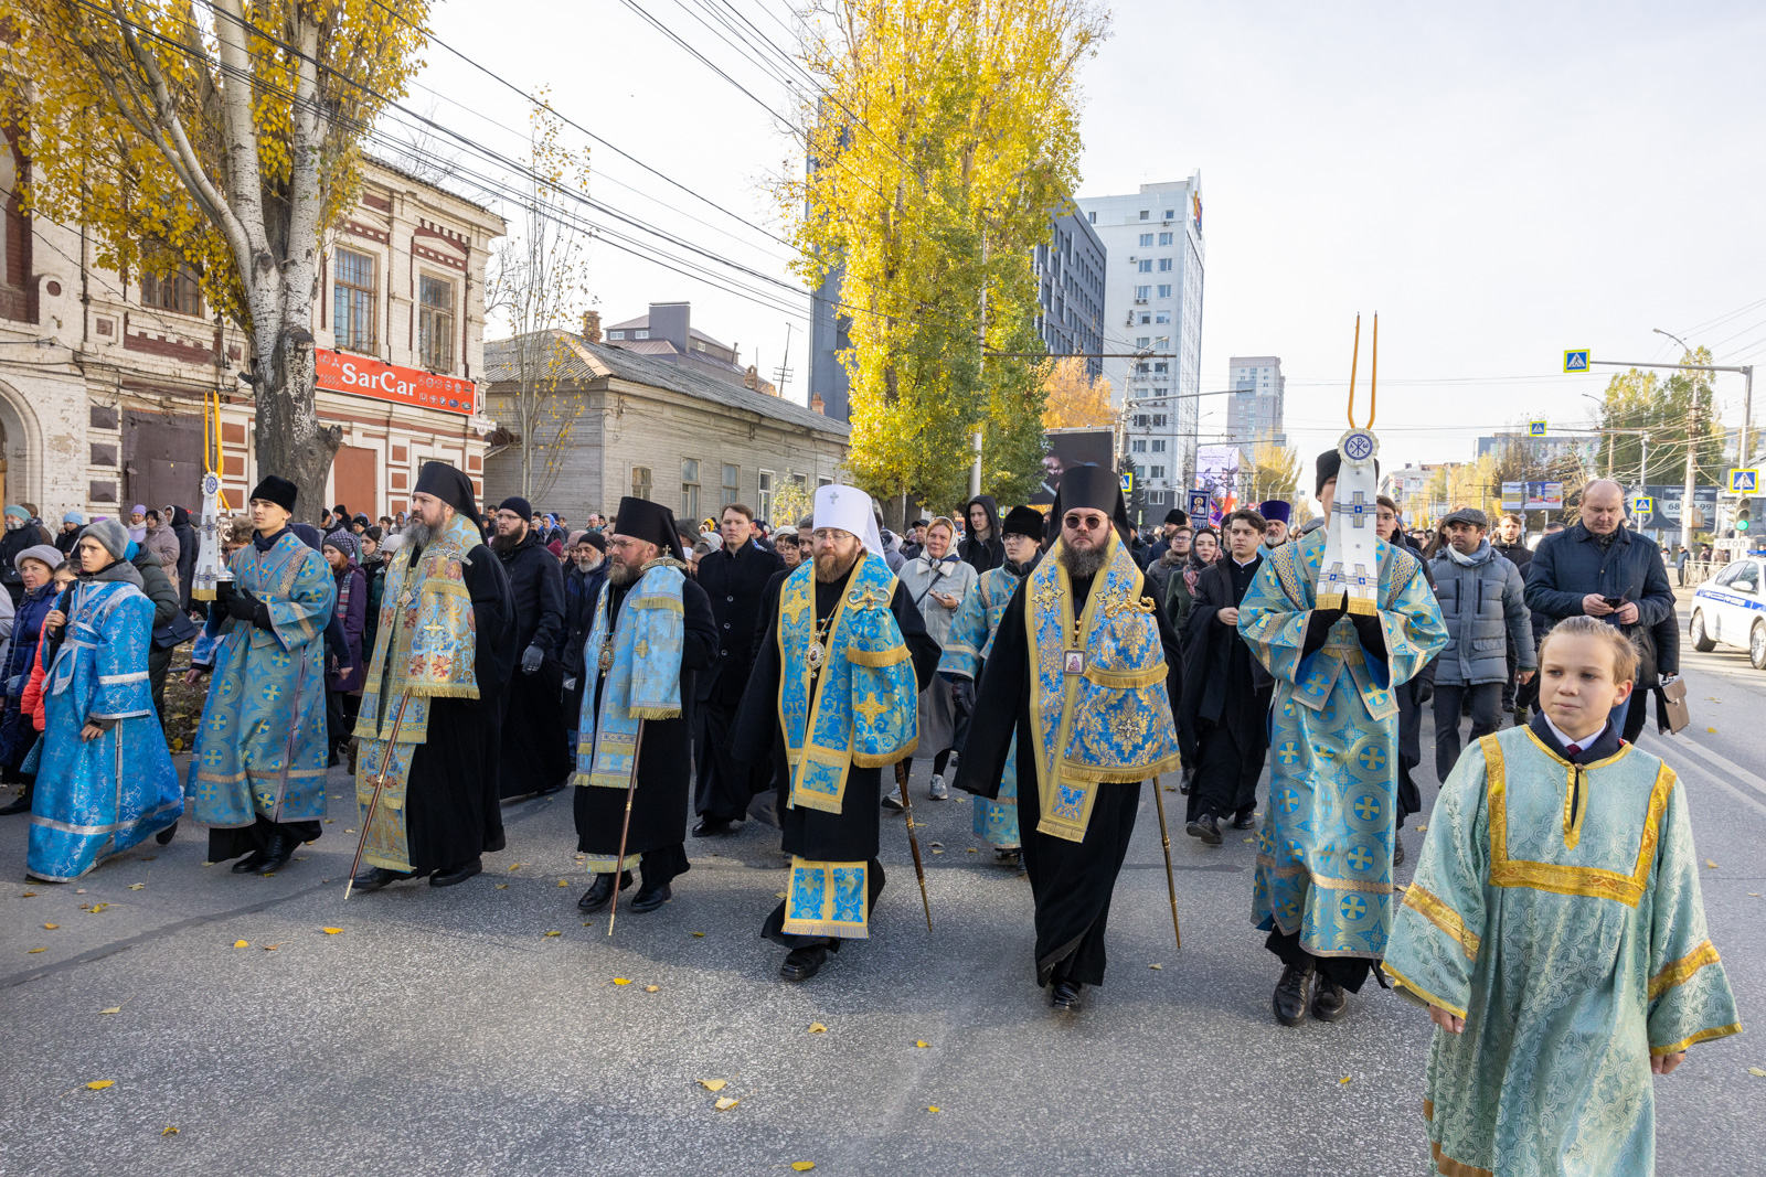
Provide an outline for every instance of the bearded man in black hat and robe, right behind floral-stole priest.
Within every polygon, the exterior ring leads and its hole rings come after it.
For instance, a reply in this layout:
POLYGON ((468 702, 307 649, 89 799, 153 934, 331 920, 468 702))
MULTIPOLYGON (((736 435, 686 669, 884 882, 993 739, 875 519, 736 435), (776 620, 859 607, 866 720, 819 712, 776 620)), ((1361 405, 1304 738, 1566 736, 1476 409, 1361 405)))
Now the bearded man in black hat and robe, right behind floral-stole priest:
POLYGON ((498 796, 505 801, 528 792, 546 794, 563 789, 570 775, 570 748, 565 739, 563 662, 558 639, 563 635, 563 570, 540 545, 528 519, 533 508, 510 496, 496 508, 496 536, 491 551, 509 577, 516 614, 516 649, 521 660, 503 692, 503 761, 498 796))

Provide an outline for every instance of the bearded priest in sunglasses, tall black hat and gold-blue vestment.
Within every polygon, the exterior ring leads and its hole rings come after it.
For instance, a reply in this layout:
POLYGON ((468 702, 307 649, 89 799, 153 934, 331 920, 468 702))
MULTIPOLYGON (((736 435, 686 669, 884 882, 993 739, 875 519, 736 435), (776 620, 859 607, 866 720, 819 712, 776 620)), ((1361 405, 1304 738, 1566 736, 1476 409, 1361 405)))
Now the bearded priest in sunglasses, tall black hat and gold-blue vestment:
POLYGON ((1037 985, 1075 1011, 1083 988, 1104 983, 1141 782, 1178 768, 1183 658, 1128 551, 1116 471, 1068 469, 1053 519, 1060 536, 1012 595, 982 669, 957 787, 994 799, 1017 736, 1037 985))

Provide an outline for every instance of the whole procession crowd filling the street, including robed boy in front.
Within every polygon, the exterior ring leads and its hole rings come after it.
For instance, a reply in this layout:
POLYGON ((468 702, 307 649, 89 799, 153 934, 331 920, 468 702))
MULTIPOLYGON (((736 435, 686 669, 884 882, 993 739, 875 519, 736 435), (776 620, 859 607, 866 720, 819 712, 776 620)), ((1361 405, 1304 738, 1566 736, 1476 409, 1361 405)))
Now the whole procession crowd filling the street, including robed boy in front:
POLYGON ((1272 499, 1173 510, 1151 536, 1097 466, 1047 514, 977 496, 904 535, 846 485, 795 524, 625 498, 569 529, 519 496, 480 514, 443 462, 408 514, 314 526, 272 475, 194 611, 182 508, 51 536, 9 506, 0 768, 25 794, 5 812, 32 812, 39 879, 168 842, 185 812, 208 859, 274 873, 321 835, 344 762, 351 888, 376 891, 472 879, 503 801, 576 785, 577 905, 636 882, 634 914, 675 898, 689 824, 761 821, 791 863, 759 933, 805 981, 871 935, 881 829, 906 812, 911 833, 924 759, 924 799, 971 794, 977 838, 1023 868, 1035 979, 1075 1011, 1104 983, 1143 783, 1169 775, 1187 835, 1257 831, 1277 1022, 1337 1022, 1369 978, 1429 1008, 1441 1172, 1558 1172, 1552 1149, 1648 1172, 1628 1142, 1649 1075, 1740 1029, 1685 799, 1635 743, 1678 672, 1662 554, 1605 480, 1531 549, 1515 515, 1418 535, 1379 496, 1367 595, 1321 595, 1330 528, 1367 522, 1337 506, 1342 462, 1319 457, 1303 526, 1272 499), (180 782, 161 685, 192 639, 207 701, 180 782), (1443 783, 1399 888, 1425 706, 1443 783))

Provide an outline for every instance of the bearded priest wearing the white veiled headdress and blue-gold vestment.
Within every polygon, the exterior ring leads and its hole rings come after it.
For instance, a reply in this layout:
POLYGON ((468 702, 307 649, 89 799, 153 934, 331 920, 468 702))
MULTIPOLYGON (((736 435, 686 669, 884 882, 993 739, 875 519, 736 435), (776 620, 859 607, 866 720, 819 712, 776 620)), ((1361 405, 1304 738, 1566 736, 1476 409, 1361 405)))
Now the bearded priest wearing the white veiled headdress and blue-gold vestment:
POLYGON ((883 766, 913 753, 918 695, 938 642, 883 558, 876 508, 857 487, 816 489, 812 559, 768 586, 766 633, 736 720, 736 759, 774 759, 786 898, 761 935, 791 949, 779 976, 807 981, 841 941, 871 935, 883 766))

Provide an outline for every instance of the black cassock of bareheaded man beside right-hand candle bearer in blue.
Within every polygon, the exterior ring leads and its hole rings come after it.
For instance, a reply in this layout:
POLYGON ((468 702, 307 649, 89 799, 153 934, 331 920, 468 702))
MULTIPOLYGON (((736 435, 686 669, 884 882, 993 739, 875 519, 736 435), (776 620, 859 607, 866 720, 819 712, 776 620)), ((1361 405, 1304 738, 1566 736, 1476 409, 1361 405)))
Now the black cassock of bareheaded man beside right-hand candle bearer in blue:
POLYGON ((1245 566, 1227 556, 1196 577, 1196 602, 1183 626, 1185 683, 1178 709, 1178 723, 1196 746, 1189 821, 1203 812, 1231 819, 1257 805, 1275 679, 1252 656, 1238 626, 1224 625, 1219 616, 1229 605, 1238 609, 1261 566, 1261 552, 1245 566))

